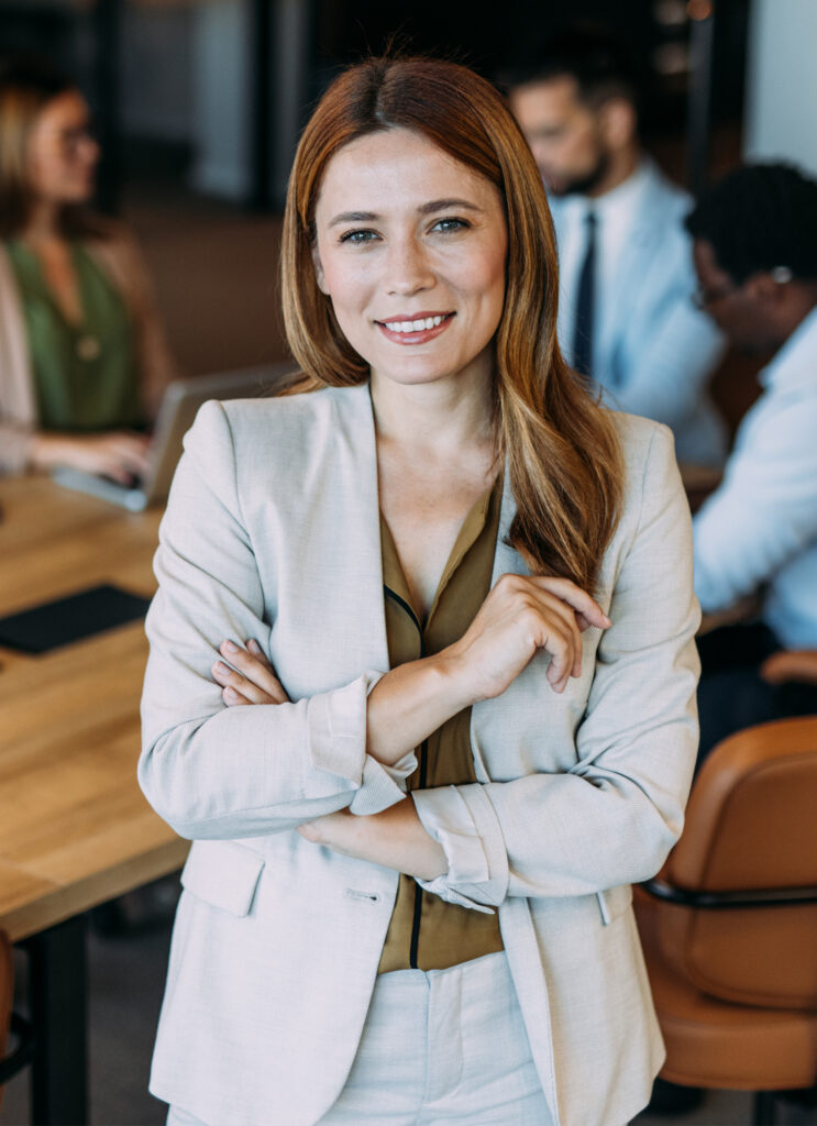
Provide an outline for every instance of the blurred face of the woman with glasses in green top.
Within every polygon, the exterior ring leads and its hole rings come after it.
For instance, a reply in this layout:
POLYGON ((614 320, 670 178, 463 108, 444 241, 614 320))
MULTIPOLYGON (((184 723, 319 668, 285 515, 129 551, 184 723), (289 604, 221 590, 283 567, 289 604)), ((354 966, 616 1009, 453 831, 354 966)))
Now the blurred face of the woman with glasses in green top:
POLYGON ((88 132, 89 120, 78 90, 52 98, 37 115, 28 137, 28 175, 39 200, 80 204, 93 195, 99 145, 88 132))

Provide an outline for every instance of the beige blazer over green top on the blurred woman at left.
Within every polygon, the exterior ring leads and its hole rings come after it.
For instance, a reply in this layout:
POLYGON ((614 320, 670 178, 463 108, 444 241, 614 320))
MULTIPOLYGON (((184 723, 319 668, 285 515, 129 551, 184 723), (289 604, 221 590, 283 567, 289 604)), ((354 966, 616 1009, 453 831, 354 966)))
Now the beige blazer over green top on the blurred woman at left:
MULTIPOLYGON (((86 248, 108 274, 131 313, 138 370, 149 415, 178 372, 154 307, 142 256, 133 238, 111 224, 110 238, 86 248)), ((0 244, 0 474, 21 473, 37 429, 37 403, 20 294, 9 257, 0 244)))

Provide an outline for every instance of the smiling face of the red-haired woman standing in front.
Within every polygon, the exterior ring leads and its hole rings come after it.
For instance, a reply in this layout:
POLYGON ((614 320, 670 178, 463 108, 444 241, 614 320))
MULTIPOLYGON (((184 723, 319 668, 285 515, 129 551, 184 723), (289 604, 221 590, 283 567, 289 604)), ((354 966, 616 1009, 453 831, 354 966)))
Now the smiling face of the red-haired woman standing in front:
POLYGON ((315 225, 317 284, 372 379, 491 375, 508 227, 490 180, 420 133, 372 133, 330 161, 315 225))

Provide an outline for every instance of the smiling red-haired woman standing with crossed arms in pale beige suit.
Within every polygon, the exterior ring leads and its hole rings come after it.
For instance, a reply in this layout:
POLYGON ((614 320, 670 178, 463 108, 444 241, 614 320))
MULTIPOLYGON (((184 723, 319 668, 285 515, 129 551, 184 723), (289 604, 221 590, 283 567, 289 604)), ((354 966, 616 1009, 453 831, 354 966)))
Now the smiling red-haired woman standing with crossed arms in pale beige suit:
POLYGON ((305 378, 201 410, 156 557, 140 777, 194 846, 151 1089, 621 1126, 662 1062, 629 884, 695 753, 671 436, 564 364, 541 180, 466 69, 336 79, 282 278, 305 378))

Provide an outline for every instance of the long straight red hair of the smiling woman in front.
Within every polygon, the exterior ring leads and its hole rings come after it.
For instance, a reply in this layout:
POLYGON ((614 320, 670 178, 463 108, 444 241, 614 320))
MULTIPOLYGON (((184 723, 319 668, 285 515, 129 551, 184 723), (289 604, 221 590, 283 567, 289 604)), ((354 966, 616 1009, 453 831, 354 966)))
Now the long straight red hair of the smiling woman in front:
POLYGON ((533 572, 592 589, 620 508, 618 437, 559 351, 556 240, 530 149, 500 93, 467 68, 369 59, 340 74, 312 115, 289 179, 281 248, 287 338, 305 373, 293 390, 353 386, 369 376, 317 286, 314 216, 332 157, 389 128, 423 134, 502 194, 509 249, 494 405, 517 502, 509 539, 533 572))

